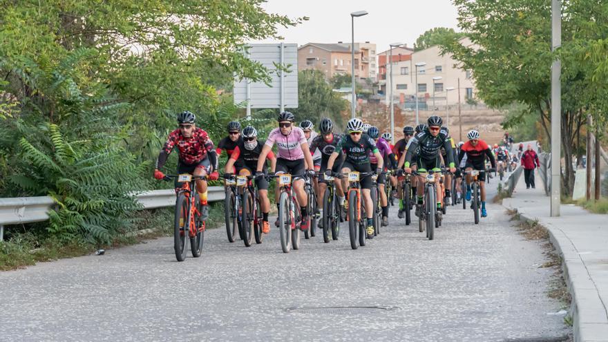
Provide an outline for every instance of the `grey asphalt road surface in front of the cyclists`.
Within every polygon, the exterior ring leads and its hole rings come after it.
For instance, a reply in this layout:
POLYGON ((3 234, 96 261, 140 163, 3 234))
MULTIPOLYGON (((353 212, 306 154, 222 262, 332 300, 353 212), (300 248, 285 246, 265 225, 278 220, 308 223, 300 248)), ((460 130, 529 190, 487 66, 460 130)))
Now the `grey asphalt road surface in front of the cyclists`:
POLYGON ((554 271, 539 268, 540 243, 499 205, 488 211, 475 226, 470 209, 450 208, 428 241, 392 210, 356 251, 345 230, 283 254, 276 229, 249 248, 213 229, 202 258, 183 263, 160 238, 3 272, 0 340, 561 341, 569 329, 550 314, 562 307, 546 295, 554 271))

